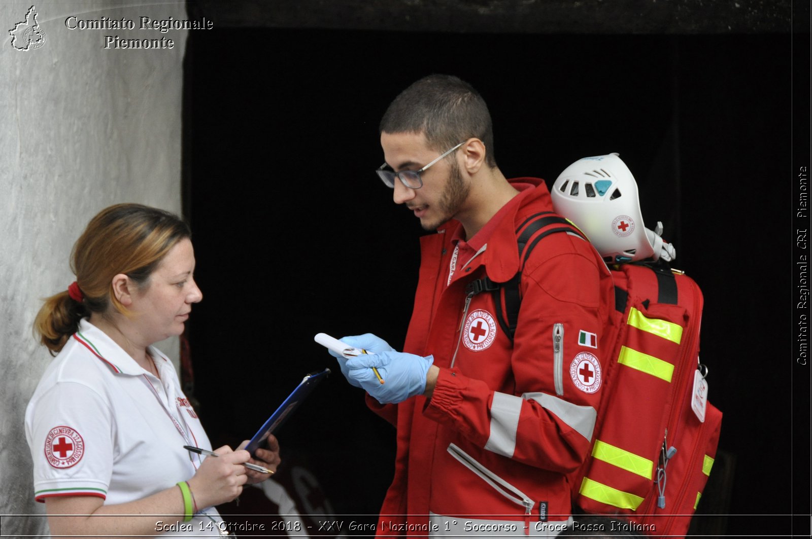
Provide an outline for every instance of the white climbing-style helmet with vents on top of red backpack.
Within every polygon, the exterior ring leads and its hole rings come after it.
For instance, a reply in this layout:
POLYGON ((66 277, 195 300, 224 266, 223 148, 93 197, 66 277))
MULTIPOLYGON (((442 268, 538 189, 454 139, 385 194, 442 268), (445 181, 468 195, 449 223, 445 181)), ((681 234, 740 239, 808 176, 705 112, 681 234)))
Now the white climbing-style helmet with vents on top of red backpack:
POLYGON ((654 231, 643 226, 637 183, 617 153, 572 163, 550 194, 555 212, 574 222, 608 264, 676 257, 660 237, 662 223, 654 231))

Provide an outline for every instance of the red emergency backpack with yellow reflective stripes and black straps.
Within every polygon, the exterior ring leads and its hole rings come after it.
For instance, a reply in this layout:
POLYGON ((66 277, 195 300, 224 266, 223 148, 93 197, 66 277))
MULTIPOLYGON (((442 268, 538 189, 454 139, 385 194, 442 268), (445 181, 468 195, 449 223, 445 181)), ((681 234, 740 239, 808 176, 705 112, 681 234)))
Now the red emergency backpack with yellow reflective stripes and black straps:
MULTIPOLYGON (((540 213, 516 231, 520 261, 556 232, 586 239, 567 219, 540 213)), ((615 266, 611 274, 615 324, 602 336, 611 344, 602 351, 609 354, 607 385, 590 455, 568 476, 572 501, 586 513, 621 516, 646 535, 685 536, 722 420, 711 403, 702 420, 692 407, 694 392, 706 391, 698 356, 702 291, 662 261, 615 266)), ((499 324, 511 338, 520 278, 521 270, 508 282, 481 279, 480 288, 496 295, 499 324)))

